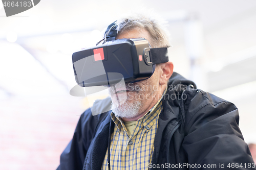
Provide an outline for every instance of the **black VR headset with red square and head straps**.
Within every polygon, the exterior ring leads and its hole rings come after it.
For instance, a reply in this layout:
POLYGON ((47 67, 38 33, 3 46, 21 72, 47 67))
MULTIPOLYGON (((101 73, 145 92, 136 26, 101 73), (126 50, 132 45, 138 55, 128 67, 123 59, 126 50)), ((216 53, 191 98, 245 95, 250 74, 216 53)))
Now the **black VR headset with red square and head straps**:
POLYGON ((136 82, 150 78, 155 64, 169 61, 167 47, 150 48, 144 38, 118 39, 113 22, 102 44, 72 55, 75 80, 81 87, 111 86, 122 79, 136 82))

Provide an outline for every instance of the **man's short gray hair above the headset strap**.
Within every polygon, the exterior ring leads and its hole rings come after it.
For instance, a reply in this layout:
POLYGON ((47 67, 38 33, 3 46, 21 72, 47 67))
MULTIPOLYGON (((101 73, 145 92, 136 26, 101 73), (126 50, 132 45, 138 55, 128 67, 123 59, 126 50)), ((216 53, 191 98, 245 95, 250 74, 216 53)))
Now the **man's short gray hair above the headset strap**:
POLYGON ((146 17, 143 14, 135 14, 120 18, 116 21, 117 36, 134 29, 146 30, 151 36, 151 47, 169 47, 169 35, 161 23, 153 17, 146 17))

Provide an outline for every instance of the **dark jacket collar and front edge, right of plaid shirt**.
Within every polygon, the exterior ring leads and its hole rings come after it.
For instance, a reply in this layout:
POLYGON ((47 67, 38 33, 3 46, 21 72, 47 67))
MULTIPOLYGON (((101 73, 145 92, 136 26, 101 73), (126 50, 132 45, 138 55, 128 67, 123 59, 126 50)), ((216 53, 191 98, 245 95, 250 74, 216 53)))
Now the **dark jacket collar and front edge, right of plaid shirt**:
POLYGON ((186 86, 193 85, 196 88, 196 84, 193 81, 189 81, 174 72, 172 77, 168 81, 168 89, 163 97, 163 111, 159 115, 158 129, 155 136, 155 150, 152 156, 152 163, 158 162, 159 153, 161 150, 167 148, 168 137, 172 135, 172 131, 181 122, 180 105, 179 100, 182 92, 186 89, 186 86))

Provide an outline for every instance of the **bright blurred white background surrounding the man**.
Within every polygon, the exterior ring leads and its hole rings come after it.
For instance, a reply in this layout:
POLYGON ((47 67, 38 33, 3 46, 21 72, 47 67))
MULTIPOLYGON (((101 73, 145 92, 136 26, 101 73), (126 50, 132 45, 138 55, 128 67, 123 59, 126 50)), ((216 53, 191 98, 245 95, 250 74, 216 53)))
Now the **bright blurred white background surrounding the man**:
POLYGON ((72 53, 95 45, 125 13, 168 21, 175 71, 237 105, 247 143, 256 143, 256 1, 42 0, 6 17, 0 5, 0 169, 55 169, 85 98, 72 53))

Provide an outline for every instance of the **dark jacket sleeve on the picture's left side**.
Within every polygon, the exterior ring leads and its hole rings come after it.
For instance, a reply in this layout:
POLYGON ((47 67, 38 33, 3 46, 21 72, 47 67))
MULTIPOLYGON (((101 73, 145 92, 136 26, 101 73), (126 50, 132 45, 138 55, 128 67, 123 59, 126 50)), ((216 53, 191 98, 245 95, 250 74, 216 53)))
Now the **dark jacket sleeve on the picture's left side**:
POLYGON ((60 155, 60 164, 57 170, 82 169, 84 159, 86 158, 98 125, 108 115, 110 106, 111 98, 98 100, 94 102, 93 107, 81 114, 72 140, 60 155))

